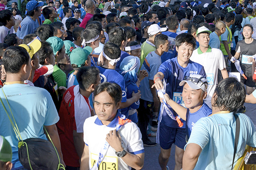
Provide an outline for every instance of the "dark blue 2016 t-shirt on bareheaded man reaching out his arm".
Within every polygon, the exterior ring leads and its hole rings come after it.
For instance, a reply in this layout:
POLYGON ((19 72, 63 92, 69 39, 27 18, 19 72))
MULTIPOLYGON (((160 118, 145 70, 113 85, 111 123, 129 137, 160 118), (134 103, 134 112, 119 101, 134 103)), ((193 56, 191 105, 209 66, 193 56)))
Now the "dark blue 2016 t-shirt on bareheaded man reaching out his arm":
MULTIPOLYGON (((174 92, 182 93, 183 86, 180 86, 179 84, 182 80, 184 80, 185 76, 189 76, 191 74, 199 74, 206 78, 206 73, 202 65, 189 60, 188 66, 183 68, 178 63, 177 57, 162 63, 158 69, 158 72, 162 72, 164 75, 163 87, 171 99, 173 99, 174 92)), ((174 113, 175 117, 178 116, 178 114, 171 107, 169 108, 170 111, 174 113)), ((166 126, 180 128, 177 121, 173 120, 169 117, 169 115, 167 115, 163 103, 161 103, 158 120, 159 122, 164 123, 166 126)), ((185 128, 185 121, 181 119, 181 122, 184 124, 181 128, 185 128)))

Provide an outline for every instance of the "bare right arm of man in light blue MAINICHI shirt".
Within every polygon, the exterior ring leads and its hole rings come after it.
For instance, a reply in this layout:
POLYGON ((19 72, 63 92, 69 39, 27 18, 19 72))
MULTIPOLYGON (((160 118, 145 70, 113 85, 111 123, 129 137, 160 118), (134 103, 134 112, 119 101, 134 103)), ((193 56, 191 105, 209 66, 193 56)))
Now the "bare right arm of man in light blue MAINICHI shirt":
MULTIPOLYGON (((53 124, 53 125, 50 125, 50 126, 45 126, 45 129, 47 130, 50 138, 52 139, 52 142, 53 142, 54 146, 56 147, 56 149, 59 152, 59 155, 60 155, 60 158, 61 158, 60 162, 65 166, 65 163, 63 161, 63 155, 62 155, 62 152, 61 152, 60 138, 59 138, 59 134, 58 134, 56 125, 53 124)), ((45 134, 46 134, 47 139, 50 141, 46 132, 45 132, 45 134)))

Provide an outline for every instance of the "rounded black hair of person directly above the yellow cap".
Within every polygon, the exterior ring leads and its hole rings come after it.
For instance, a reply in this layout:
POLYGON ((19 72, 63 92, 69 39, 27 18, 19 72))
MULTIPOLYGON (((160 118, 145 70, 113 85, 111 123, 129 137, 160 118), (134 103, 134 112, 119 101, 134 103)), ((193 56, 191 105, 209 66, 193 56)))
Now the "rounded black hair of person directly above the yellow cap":
POLYGON ((50 24, 42 24, 37 28, 36 34, 42 41, 46 41, 54 36, 54 28, 50 24))

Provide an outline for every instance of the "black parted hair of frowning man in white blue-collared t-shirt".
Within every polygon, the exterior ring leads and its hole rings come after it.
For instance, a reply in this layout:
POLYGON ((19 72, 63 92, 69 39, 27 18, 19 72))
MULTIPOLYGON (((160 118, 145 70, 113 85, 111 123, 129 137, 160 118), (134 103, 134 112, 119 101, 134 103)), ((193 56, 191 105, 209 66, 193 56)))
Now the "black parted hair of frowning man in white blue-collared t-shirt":
POLYGON ((118 84, 109 82, 99 84, 94 90, 94 97, 103 91, 108 92, 108 94, 114 100, 115 104, 122 101, 122 90, 118 84))

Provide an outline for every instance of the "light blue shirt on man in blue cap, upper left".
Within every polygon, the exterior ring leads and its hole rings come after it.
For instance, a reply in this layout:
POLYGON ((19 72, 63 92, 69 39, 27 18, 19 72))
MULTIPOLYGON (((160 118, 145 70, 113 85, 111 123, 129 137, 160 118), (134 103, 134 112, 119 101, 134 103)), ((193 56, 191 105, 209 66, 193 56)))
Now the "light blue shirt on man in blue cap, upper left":
POLYGON ((23 40, 26 35, 36 31, 36 29, 40 26, 39 23, 39 19, 34 21, 30 16, 26 16, 26 18, 21 21, 18 27, 17 36, 23 40))

